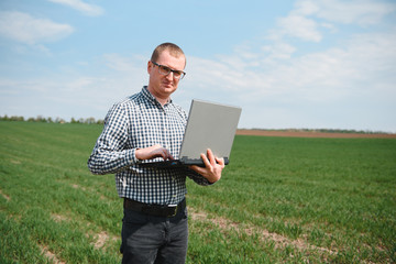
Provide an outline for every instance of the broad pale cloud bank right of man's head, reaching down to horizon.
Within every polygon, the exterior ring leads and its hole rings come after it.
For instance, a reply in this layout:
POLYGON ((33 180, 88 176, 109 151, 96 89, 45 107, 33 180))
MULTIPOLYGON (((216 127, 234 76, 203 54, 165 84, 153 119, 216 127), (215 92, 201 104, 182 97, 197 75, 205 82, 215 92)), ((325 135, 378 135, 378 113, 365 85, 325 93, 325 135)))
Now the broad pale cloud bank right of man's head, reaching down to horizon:
POLYGON ((282 42, 255 54, 244 46, 250 56, 240 50, 220 59, 188 56, 188 76, 176 101, 205 97, 241 106, 243 128, 396 131, 391 118, 396 110, 395 43, 392 32, 364 33, 293 56, 296 48, 282 42))

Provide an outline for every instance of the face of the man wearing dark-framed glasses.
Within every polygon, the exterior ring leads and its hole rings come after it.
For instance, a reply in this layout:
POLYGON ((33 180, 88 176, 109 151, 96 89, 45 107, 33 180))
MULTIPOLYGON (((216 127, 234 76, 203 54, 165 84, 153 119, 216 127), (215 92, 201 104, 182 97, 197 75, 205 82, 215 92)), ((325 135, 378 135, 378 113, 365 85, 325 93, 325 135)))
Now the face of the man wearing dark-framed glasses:
MULTIPOLYGON (((175 70, 184 70, 186 59, 185 56, 174 57, 168 51, 164 51, 160 54, 156 62, 160 65, 166 66, 175 70)), ((158 72, 158 66, 148 62, 147 72, 150 74, 148 90, 157 99, 167 100, 170 95, 177 89, 179 79, 174 78, 174 74, 170 72, 168 75, 162 75, 158 72)))

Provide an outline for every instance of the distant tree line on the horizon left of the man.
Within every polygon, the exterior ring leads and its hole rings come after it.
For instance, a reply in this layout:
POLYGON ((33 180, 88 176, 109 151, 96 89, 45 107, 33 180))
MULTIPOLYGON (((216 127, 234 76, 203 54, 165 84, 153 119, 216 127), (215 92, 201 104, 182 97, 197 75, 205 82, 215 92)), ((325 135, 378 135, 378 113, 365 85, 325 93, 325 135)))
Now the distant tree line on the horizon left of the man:
POLYGON ((42 123, 85 123, 85 124, 103 124, 103 120, 102 119, 98 119, 96 120, 95 118, 80 118, 80 119, 75 119, 72 118, 69 121, 66 121, 62 118, 45 118, 43 116, 37 116, 35 118, 28 118, 25 119, 24 117, 19 117, 19 116, 11 116, 8 117, 7 114, 3 117, 0 117, 0 121, 26 121, 26 122, 42 122, 42 123))

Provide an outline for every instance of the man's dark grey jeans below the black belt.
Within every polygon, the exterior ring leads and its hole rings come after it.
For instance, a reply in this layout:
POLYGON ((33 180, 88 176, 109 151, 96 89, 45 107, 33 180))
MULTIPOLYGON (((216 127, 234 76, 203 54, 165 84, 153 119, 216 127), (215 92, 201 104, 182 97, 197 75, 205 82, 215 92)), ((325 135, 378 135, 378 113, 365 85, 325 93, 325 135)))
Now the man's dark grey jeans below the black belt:
POLYGON ((122 263, 185 263, 188 244, 187 208, 175 217, 152 217, 124 209, 122 263))

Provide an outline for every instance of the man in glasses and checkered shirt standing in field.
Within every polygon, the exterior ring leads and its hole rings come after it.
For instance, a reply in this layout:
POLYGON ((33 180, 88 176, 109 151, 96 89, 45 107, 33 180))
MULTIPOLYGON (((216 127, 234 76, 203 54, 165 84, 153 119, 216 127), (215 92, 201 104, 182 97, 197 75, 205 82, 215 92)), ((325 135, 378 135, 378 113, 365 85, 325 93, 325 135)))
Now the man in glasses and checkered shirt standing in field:
POLYGON ((123 198, 122 263, 185 263, 186 177, 199 185, 221 178, 224 161, 208 150, 206 167, 150 168, 145 160, 178 158, 187 113, 170 99, 184 77, 186 57, 173 43, 155 48, 148 86, 116 103, 88 160, 94 174, 116 173, 123 198))

